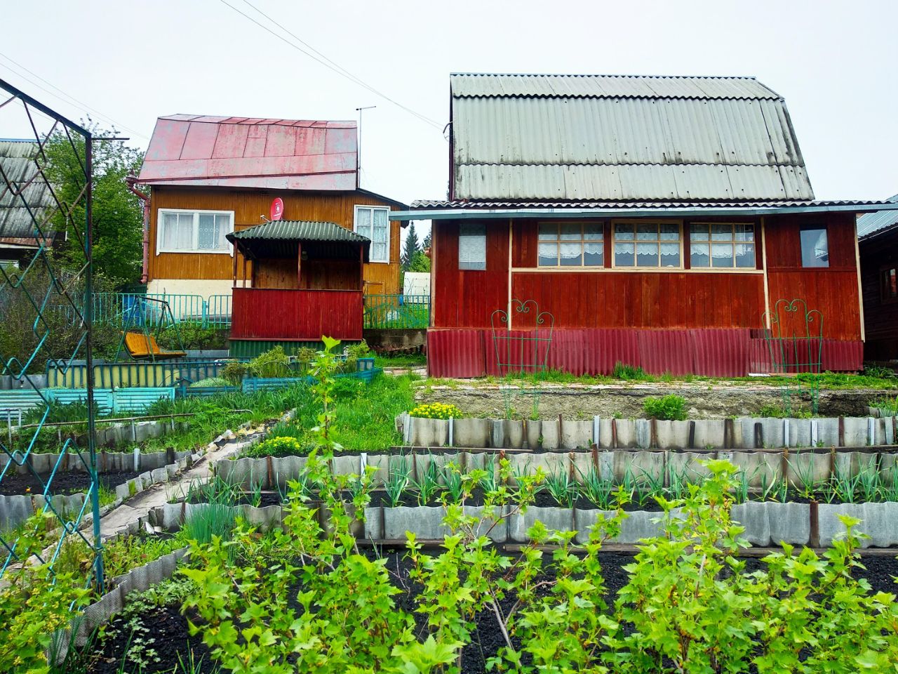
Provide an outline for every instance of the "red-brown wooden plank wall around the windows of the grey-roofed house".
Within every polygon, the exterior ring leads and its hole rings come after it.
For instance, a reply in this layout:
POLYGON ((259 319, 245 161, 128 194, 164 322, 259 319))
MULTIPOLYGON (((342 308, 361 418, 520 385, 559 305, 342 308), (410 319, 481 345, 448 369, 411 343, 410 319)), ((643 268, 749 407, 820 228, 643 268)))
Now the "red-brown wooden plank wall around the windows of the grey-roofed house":
MULTIPOLYGON (((797 237, 800 226, 812 220, 766 218, 770 300, 804 297, 809 308, 823 312, 824 336, 859 340, 854 216, 813 220, 820 222, 828 230, 831 267, 803 269, 797 237)), ((511 296, 535 299, 541 309, 555 315, 558 327, 761 328, 766 305, 760 219, 755 226, 755 270, 550 271, 536 268, 537 223, 519 220, 513 223, 511 296)), ((459 270, 458 223, 434 223, 435 327, 487 328, 490 313, 506 308, 508 223, 489 221, 487 232, 487 270, 459 270)), ((606 226, 606 264, 611 253, 606 226)))

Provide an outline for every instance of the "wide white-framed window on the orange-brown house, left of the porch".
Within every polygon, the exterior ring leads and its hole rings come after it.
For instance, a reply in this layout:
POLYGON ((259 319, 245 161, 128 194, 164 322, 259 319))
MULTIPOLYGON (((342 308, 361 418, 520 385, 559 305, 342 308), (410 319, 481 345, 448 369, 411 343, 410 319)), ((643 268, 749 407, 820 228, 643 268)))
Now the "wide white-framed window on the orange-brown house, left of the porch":
POLYGON ((156 254, 231 253, 225 238, 233 232, 233 210, 166 210, 160 208, 156 254))

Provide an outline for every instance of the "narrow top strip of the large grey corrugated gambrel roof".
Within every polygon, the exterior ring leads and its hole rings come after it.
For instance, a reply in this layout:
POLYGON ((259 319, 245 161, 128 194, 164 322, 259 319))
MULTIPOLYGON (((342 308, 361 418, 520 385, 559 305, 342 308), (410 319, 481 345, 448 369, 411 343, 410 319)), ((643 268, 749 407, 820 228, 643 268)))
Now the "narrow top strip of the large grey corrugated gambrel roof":
POLYGON ((779 99, 754 77, 453 73, 453 96, 779 99))

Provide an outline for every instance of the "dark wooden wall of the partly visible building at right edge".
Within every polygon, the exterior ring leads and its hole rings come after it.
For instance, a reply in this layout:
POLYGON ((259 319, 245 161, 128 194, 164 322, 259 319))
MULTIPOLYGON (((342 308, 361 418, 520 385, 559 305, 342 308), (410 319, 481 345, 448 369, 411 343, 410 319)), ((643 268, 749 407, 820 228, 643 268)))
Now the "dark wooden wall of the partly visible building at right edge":
POLYGON ((860 245, 860 284, 864 293, 864 356, 869 360, 898 359, 898 299, 883 301, 883 270, 898 268, 898 231, 860 245))

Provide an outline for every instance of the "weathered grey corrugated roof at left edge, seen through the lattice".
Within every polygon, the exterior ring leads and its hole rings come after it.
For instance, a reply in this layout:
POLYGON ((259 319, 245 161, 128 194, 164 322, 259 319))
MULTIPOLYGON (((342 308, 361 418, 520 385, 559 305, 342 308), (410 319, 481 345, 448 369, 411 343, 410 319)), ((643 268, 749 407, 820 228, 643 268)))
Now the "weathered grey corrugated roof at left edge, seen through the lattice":
MULTIPOLYGON (((48 209, 56 206, 52 191, 34 163, 37 153, 38 144, 34 141, 0 140, 0 171, 4 176, 0 177, 0 238, 7 239, 7 243, 37 245, 34 217, 42 221, 48 217, 48 209), (7 187, 7 181, 12 189, 7 187)), ((49 238, 53 230, 46 226, 43 233, 49 238)))

